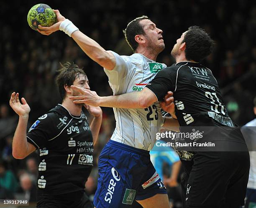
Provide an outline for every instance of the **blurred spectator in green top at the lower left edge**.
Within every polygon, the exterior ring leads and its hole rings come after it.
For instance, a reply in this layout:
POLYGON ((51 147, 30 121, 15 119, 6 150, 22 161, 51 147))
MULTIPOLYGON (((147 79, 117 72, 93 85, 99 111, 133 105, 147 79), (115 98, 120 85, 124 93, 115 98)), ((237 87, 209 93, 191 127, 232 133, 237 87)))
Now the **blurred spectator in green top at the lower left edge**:
POLYGON ((15 193, 18 182, 11 170, 6 170, 6 165, 0 161, 0 188, 5 188, 10 194, 15 193))

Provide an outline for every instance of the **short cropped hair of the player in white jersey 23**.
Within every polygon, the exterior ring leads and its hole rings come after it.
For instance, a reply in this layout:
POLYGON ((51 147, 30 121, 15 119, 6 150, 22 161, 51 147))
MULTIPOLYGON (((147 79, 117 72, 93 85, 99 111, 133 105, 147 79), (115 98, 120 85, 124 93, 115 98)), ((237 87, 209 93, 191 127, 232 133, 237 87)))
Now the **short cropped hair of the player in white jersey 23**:
POLYGON ((142 25, 140 24, 141 20, 149 20, 149 18, 145 15, 136 18, 135 20, 131 21, 128 23, 127 27, 125 30, 123 30, 123 34, 125 35, 125 40, 127 43, 130 45, 131 49, 133 52, 138 47, 138 43, 135 40, 135 35, 145 35, 146 33, 144 32, 142 25))

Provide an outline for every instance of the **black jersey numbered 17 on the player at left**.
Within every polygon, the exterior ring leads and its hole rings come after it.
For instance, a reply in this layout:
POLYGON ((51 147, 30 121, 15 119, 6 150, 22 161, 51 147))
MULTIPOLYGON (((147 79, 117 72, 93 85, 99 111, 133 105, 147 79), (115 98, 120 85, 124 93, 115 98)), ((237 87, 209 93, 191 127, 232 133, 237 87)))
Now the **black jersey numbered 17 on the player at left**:
POLYGON ((38 195, 84 189, 92 170, 93 140, 84 113, 75 117, 57 105, 38 118, 27 134, 38 149, 38 195))

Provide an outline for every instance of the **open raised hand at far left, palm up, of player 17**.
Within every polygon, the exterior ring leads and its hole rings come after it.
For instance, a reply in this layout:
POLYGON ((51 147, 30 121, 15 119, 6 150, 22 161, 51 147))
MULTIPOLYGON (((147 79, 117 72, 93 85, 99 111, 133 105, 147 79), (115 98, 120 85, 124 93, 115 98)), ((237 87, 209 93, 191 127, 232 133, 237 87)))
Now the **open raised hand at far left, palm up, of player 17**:
POLYGON ((28 113, 30 112, 30 107, 28 103, 26 102, 25 98, 21 98, 21 102, 19 100, 19 93, 13 92, 10 97, 10 107, 13 108, 15 113, 17 113, 19 116, 28 116, 28 113))

